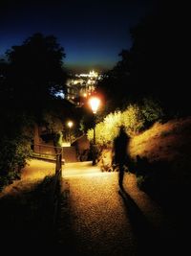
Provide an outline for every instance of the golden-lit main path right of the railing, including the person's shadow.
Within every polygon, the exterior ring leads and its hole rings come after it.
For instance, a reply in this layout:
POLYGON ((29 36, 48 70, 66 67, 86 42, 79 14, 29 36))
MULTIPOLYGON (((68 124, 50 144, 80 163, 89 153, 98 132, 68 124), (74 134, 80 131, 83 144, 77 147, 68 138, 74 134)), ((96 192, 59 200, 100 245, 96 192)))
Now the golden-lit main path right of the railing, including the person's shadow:
POLYGON ((64 166, 57 239, 68 255, 163 252, 165 223, 159 206, 138 190, 134 175, 126 174, 125 189, 128 194, 119 195, 117 173, 101 173, 91 162, 64 166))

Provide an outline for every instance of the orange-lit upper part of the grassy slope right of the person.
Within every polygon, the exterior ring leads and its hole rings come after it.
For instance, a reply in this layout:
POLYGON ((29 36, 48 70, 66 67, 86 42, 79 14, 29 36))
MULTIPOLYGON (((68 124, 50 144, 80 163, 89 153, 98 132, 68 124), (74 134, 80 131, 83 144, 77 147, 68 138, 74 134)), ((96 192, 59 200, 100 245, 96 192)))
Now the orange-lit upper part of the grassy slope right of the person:
POLYGON ((149 161, 181 161, 191 157, 191 117, 156 123, 152 128, 135 136, 130 154, 148 157, 149 161))

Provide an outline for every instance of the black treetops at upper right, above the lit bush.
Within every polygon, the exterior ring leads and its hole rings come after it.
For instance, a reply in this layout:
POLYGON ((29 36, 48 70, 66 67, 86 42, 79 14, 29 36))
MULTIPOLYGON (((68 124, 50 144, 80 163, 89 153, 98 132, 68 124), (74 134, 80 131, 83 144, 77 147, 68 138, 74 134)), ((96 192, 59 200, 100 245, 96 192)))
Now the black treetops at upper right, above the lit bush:
POLYGON ((98 85, 110 109, 149 96, 160 101, 169 115, 190 114, 187 33, 181 12, 175 5, 161 5, 130 32, 131 49, 119 53, 121 60, 98 85))

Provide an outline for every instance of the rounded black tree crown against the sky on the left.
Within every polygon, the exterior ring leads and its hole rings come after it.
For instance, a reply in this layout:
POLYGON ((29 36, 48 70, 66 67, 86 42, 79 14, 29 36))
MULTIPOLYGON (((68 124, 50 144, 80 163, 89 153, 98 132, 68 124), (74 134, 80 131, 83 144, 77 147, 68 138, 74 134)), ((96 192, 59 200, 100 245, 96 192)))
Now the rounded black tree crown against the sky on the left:
POLYGON ((43 105, 56 91, 64 89, 65 53, 53 35, 34 34, 21 46, 12 46, 7 58, 9 85, 17 106, 43 105))

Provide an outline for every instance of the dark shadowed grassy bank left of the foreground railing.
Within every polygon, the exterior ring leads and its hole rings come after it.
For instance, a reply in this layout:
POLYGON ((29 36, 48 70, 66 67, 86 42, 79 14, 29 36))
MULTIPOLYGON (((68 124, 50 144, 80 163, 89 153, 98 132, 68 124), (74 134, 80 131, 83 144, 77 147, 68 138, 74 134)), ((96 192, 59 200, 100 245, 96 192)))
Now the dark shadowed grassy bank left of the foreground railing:
POLYGON ((13 251, 23 246, 47 251, 53 248, 53 178, 47 175, 36 182, 18 181, 0 198, 2 249, 13 251))

